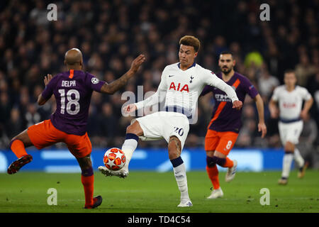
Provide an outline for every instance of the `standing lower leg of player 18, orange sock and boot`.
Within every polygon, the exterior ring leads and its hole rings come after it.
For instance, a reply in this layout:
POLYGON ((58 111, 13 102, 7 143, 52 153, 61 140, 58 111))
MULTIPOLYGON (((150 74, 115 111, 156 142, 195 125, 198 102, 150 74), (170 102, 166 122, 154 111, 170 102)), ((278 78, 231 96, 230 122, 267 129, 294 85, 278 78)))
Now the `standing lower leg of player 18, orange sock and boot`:
POLYGON ((92 168, 91 155, 78 157, 77 162, 81 167, 81 182, 84 187, 85 209, 94 209, 102 203, 102 196, 93 197, 94 192, 94 171, 92 168))

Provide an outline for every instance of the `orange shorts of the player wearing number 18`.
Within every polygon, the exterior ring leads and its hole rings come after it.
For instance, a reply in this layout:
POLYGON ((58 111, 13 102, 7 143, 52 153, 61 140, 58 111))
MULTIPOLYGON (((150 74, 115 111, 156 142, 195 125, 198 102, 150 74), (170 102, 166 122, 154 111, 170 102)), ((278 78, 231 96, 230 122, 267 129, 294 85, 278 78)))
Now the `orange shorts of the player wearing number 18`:
POLYGON ((64 142, 74 157, 85 157, 92 151, 87 133, 84 135, 67 134, 55 128, 50 120, 30 126, 27 132, 31 142, 39 150, 55 143, 64 142))

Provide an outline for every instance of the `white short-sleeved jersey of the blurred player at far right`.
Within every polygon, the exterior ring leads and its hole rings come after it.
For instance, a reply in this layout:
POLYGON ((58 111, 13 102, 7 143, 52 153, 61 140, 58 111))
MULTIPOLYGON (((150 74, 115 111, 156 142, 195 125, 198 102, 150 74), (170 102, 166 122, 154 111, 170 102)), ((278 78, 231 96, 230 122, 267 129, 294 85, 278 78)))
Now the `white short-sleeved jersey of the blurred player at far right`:
POLYGON ((292 120, 300 117, 303 100, 311 99, 311 94, 304 87, 296 86, 289 92, 286 85, 281 85, 274 89, 272 99, 279 104, 280 118, 292 120))

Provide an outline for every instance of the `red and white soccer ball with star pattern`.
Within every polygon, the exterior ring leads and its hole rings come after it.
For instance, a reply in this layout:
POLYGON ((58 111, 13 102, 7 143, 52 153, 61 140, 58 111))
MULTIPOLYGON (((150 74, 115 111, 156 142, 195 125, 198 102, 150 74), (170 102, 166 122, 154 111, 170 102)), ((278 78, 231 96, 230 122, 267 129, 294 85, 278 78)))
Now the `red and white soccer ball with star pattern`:
POLYGON ((126 157, 121 149, 111 148, 106 150, 103 162, 108 170, 121 170, 125 165, 126 157))

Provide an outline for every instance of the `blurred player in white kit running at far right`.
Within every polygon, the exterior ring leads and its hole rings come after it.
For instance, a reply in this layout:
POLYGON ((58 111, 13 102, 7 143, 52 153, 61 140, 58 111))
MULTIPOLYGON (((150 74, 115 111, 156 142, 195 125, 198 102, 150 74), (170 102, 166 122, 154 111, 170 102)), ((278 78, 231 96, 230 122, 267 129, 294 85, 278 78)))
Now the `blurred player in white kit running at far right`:
POLYGON ((285 84, 274 89, 274 94, 269 102, 271 117, 277 118, 279 116, 279 135, 285 150, 279 184, 288 183, 293 159, 299 167, 298 178, 302 178, 305 175, 307 167, 305 160, 303 160, 298 148, 296 148, 296 144, 298 144, 299 136, 303 131, 303 118, 306 118, 313 104, 313 98, 306 88, 296 85, 296 82, 295 72, 286 70, 284 74, 285 84), (304 105, 303 100, 305 101, 304 105), (279 105, 279 110, 277 109, 277 104, 279 105))

